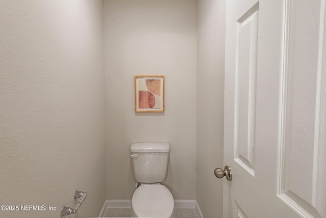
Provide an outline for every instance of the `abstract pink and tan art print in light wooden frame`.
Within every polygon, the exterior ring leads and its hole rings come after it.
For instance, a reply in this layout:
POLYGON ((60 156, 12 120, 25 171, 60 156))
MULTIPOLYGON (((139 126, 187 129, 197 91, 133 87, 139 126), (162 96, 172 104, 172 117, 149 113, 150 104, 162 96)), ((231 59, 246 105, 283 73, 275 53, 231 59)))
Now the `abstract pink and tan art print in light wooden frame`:
POLYGON ((164 76, 134 76, 135 112, 164 112, 164 76))

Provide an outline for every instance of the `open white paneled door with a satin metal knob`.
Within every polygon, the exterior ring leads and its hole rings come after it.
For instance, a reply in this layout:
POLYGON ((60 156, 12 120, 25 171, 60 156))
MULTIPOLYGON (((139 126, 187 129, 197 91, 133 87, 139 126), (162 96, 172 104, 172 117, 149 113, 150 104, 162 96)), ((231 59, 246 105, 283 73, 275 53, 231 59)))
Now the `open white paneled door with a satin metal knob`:
POLYGON ((226 2, 224 218, 326 218, 325 0, 226 2))

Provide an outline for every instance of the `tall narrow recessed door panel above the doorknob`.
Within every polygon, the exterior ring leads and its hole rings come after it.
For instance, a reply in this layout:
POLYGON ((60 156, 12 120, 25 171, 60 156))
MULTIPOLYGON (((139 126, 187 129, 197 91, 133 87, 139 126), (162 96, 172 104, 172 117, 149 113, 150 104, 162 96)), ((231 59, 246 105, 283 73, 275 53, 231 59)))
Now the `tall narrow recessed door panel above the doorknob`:
POLYGON ((255 174, 258 4, 237 21, 235 160, 255 174))

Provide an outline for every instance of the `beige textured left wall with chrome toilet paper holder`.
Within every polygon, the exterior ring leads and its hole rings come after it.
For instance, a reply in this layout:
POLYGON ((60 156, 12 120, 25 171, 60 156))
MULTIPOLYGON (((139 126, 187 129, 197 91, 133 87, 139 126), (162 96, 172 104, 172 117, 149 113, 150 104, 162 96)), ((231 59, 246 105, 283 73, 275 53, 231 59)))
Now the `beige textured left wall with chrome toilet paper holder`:
MULTIPOLYGON (((79 217, 105 200, 101 1, 1 1, 0 202, 57 211, 89 196, 79 217)), ((71 217, 78 217, 71 215, 71 217)))

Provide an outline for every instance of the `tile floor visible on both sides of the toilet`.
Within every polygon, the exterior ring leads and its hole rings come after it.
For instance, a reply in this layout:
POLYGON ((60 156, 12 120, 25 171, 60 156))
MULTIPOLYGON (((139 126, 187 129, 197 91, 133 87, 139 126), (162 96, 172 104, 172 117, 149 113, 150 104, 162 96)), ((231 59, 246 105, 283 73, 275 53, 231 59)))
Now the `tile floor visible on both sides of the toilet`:
MULTIPOLYGON (((105 217, 130 217, 130 208, 109 208, 105 217)), ((176 208, 175 218, 199 218, 194 208, 176 208)))

